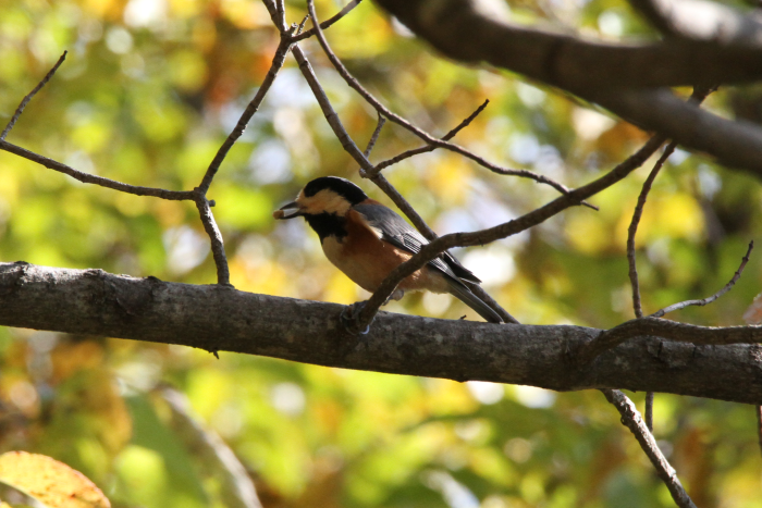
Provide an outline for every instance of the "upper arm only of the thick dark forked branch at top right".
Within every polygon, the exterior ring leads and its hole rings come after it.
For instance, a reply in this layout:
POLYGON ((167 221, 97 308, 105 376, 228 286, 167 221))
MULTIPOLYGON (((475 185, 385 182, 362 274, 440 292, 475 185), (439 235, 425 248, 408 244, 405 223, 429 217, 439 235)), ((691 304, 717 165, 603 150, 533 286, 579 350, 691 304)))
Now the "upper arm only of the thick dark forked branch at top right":
MULTIPOLYGON (((743 83, 762 77, 762 41, 605 44, 521 26, 476 0, 376 0, 455 60, 487 62, 567 90, 743 83)), ((728 37, 733 40, 733 37, 728 37)))

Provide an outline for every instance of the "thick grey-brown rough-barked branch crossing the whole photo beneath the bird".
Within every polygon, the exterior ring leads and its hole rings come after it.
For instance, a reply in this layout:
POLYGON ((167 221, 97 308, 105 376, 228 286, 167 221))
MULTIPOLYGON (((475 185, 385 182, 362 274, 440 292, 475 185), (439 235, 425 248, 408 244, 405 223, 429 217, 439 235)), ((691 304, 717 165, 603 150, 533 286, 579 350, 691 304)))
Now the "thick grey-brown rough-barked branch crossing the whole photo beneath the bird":
MULTIPOLYGON (((762 347, 757 344, 697 346, 640 336, 583 363, 576 352, 601 330, 380 312, 367 335, 353 336, 340 324, 343 309, 222 285, 0 263, 0 325, 5 326, 562 392, 625 388, 762 404, 762 347)), ((687 330, 678 340, 690 339, 687 330)), ((758 331, 750 330, 749 338, 757 338, 758 331)))

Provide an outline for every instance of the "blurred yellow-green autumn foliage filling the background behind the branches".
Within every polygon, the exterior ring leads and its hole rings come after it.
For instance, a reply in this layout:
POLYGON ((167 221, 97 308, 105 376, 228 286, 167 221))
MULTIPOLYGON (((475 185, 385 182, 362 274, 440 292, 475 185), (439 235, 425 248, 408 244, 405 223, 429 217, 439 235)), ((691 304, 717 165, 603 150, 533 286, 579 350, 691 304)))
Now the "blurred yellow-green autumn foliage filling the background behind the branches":
MULTIPOLYGON (((566 25, 609 40, 653 37, 623 1, 512 0, 505 7, 517 22, 566 25)), ((305 13, 303 2, 287 8, 290 21, 305 13)), ((318 2, 322 18, 339 8, 318 2)), ((647 138, 518 76, 442 60, 367 0, 328 36, 369 89, 432 133, 447 132, 489 98, 456 140, 500 164, 577 186, 647 138)), ((255 0, 4 0, 0 123, 67 49, 66 62, 9 140, 130 184, 190 189, 261 83, 276 44, 255 0)), ((364 145, 374 113, 314 40, 304 47, 364 145)), ((749 117, 757 103, 759 90, 730 89, 706 107, 749 117)), ((415 146, 390 125, 372 157, 415 146)), ((652 163, 594 197, 600 212, 569 210, 457 255, 521 322, 612 326, 627 320, 625 239, 652 163)), ((365 298, 303 224, 270 218, 322 174, 351 177, 389 202, 360 182, 288 59, 209 195, 237 288, 343 303, 365 298)), ((439 233, 491 226, 556 196, 443 151, 385 174, 439 233)), ((0 175, 3 261, 214 282, 208 239, 190 203, 82 185, 5 152, 0 175)), ((678 150, 638 232, 644 310, 722 287, 759 231, 761 198, 753 177, 678 150)), ((759 259, 752 257, 728 295, 672 318, 740 324, 760 292, 759 259)), ((408 296, 390 308, 454 319, 467 312, 434 295, 408 296)), ((618 414, 595 392, 458 384, 224 352, 218 361, 188 348, 27 330, 0 330, 0 451, 62 460, 116 507, 223 506, 214 480, 201 473, 199 459, 152 401, 160 383, 183 391, 232 446, 266 507, 672 506, 618 414)), ((640 394, 634 398, 642 401, 640 394)), ((657 395, 655 416, 656 436, 698 506, 762 507, 752 408, 657 395)))

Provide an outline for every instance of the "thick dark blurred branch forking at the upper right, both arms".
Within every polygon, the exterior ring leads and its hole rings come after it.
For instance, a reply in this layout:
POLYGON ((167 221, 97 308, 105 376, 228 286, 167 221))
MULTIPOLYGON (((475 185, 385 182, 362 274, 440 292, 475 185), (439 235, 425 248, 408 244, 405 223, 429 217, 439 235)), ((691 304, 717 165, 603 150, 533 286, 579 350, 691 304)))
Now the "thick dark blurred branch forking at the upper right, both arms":
POLYGON ((760 127, 722 119, 684 103, 667 89, 654 89, 758 80, 762 42, 605 45, 495 20, 472 0, 377 3, 451 58, 487 62, 570 91, 642 128, 762 176, 760 127))

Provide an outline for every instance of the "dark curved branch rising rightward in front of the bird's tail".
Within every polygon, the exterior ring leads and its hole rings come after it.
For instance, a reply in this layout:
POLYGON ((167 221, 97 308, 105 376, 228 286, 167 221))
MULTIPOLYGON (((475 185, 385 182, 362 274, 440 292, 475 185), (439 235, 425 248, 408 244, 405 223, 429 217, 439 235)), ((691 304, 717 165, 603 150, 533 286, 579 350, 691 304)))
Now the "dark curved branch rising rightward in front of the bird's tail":
POLYGON ((551 216, 556 215, 563 210, 577 206, 580 201, 583 201, 585 199, 588 199, 589 197, 619 182, 632 171, 640 168, 646 160, 648 160, 648 158, 662 146, 664 140, 664 136, 662 135, 657 134, 652 136, 651 139, 649 139, 646 145, 640 148, 640 150, 605 175, 582 187, 572 190, 567 195, 560 196, 548 205, 532 210, 518 219, 514 219, 488 230, 476 231, 472 233, 454 233, 444 235, 423 246, 420 252, 402 263, 396 269, 392 270, 383 283, 381 283, 381 285, 376 289, 376 293, 373 293, 358 315, 357 322, 359 330, 362 330, 372 321, 373 317, 378 312, 378 309, 384 301, 386 301, 386 298, 389 298, 403 278, 413 274, 416 270, 420 270, 426 263, 442 253, 444 250, 453 247, 489 244, 499 238, 506 238, 526 231, 529 227, 533 227, 537 224, 546 221, 551 216))

